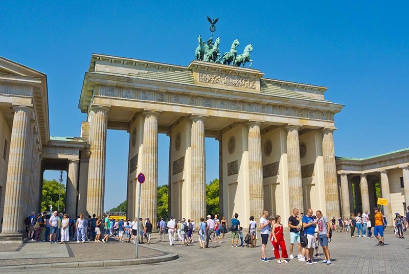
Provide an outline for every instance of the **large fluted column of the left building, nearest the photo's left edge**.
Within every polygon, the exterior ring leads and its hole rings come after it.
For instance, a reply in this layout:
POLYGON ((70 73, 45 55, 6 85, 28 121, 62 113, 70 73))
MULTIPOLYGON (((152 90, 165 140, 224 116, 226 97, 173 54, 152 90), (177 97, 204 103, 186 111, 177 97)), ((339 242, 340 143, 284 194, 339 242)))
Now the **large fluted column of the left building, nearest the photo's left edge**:
POLYGON ((24 232, 25 197, 30 168, 30 117, 32 109, 16 106, 11 130, 10 153, 4 200, 3 227, 0 241, 22 241, 24 232))

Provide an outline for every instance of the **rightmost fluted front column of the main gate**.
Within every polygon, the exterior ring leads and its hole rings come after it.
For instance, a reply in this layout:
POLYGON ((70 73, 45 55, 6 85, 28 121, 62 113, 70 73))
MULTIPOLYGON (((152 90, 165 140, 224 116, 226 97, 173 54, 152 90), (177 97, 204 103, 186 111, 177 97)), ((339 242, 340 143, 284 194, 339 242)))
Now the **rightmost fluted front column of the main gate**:
POLYGON ((339 197, 336 182, 336 165, 334 152, 334 129, 323 129, 323 160, 325 179, 325 204, 327 216, 339 216, 339 197))

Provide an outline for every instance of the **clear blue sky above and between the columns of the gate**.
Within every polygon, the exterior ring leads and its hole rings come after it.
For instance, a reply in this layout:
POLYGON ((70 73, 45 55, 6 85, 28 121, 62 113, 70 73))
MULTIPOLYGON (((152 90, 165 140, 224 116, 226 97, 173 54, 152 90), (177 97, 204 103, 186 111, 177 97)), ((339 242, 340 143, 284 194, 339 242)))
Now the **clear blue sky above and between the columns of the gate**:
MULTIPOLYGON (((222 51, 235 38, 239 52, 253 43, 253 68, 265 77, 328 86, 326 99, 346 105, 335 116, 336 155, 408 147, 406 2, 27 3, 2 1, 0 55, 47 74, 51 135, 80 135, 78 100, 92 53, 188 65, 197 35, 210 35, 209 15, 220 17, 222 51)), ((128 140, 124 131, 108 131, 105 209, 126 197, 128 140)), ((169 139, 158 140, 163 185, 169 139)), ((209 181, 218 176, 218 142, 206 141, 209 181)))

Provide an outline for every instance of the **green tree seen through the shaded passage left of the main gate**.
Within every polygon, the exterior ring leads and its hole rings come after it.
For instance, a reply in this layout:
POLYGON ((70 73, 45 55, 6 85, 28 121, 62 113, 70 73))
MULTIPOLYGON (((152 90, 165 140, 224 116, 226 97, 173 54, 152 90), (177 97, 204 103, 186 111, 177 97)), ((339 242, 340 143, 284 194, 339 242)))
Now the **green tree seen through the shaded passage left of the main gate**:
POLYGON ((51 181, 42 180, 41 211, 49 211, 51 203, 53 204, 53 210, 58 210, 58 192, 60 190, 60 212, 63 212, 65 209, 65 186, 55 179, 51 181))

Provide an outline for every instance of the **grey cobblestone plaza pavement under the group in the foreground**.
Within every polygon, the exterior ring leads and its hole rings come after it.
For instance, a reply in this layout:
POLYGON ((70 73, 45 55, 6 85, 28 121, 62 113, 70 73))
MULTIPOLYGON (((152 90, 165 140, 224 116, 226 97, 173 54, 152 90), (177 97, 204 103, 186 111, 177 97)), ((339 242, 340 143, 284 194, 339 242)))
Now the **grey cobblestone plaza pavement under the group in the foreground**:
MULTIPOLYGON (((206 269, 211 273, 261 273, 261 272, 281 272, 281 273, 409 273, 409 235, 407 239, 398 239, 388 229, 385 233, 385 246, 375 246, 375 238, 350 238, 348 233, 334 233, 329 244, 332 265, 319 263, 306 265, 297 259, 290 260, 288 264, 277 264, 274 259, 274 252, 271 251, 271 242, 267 245, 267 257, 270 262, 260 261, 260 241, 257 248, 231 247, 230 234, 226 235, 223 243, 217 243, 216 248, 199 249, 198 242, 188 247, 182 247, 180 242, 175 246, 170 246, 169 242, 157 243, 157 239, 152 239, 149 247, 163 250, 164 252, 178 253, 179 259, 138 266, 123 266, 115 268, 82 268, 64 269, 65 273, 83 271, 86 273, 102 272, 122 272, 122 271, 143 271, 144 273, 168 272, 169 269, 177 273, 202 272, 206 269)), ((197 234, 195 235, 197 240, 197 234)), ((289 235, 286 235, 287 250, 289 248, 289 235)), ((108 247, 108 246, 107 246, 108 247)), ((149 248, 148 247, 148 248, 149 248)), ((106 249, 109 252, 109 249, 106 249)), ((321 256, 315 259, 323 259, 321 256)), ((297 255, 294 246, 294 255, 297 255)), ((25 272, 25 271, 21 271, 25 272)), ((43 273, 55 273, 56 269, 42 269, 43 273)))

